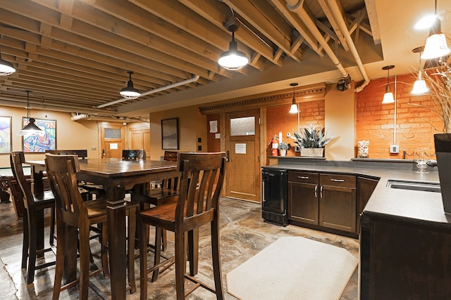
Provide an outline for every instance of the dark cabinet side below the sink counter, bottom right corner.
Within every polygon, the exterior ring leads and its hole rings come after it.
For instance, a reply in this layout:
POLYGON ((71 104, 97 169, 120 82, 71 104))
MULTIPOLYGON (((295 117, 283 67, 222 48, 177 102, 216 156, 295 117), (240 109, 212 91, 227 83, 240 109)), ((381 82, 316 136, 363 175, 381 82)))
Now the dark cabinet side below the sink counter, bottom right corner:
POLYGON ((451 299, 447 223, 362 215, 359 299, 451 299))

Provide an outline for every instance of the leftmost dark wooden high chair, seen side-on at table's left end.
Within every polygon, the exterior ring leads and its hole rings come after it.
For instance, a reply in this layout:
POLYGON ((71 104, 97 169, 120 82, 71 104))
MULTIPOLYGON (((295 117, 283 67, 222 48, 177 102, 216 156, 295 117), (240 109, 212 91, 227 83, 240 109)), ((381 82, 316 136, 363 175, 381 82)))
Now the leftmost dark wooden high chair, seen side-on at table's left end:
MULTIPOLYGON (((11 152, 10 162, 13 176, 20 186, 20 193, 23 197, 22 268, 27 268, 28 285, 35 280, 36 270, 55 264, 55 261, 37 263, 37 257, 44 256, 45 252, 51 251, 51 247, 44 247, 44 209, 55 209, 55 197, 50 190, 44 191, 44 194, 40 196, 32 193, 30 183, 27 182, 23 173, 22 164, 25 163, 23 151, 11 152)), ((51 214, 51 216, 53 215, 51 214)), ((51 218, 50 223, 49 243, 52 244, 55 234, 55 219, 51 218)))

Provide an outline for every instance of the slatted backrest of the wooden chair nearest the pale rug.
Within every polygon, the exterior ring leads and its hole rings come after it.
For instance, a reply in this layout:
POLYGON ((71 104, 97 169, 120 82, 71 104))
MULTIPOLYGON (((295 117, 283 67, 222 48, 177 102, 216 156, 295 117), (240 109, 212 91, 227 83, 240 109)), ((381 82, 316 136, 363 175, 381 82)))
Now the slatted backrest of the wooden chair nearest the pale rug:
POLYGON ((181 177, 175 222, 183 222, 185 230, 218 216, 225 167, 226 152, 178 153, 181 177))

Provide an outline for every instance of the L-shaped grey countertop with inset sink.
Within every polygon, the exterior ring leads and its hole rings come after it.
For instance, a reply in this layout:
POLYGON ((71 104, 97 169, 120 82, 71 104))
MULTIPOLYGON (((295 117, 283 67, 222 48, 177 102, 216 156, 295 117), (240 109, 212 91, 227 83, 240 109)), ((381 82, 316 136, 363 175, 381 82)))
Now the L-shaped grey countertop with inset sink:
POLYGON ((379 178, 378 185, 364 208, 364 214, 385 215, 391 219, 407 218, 414 223, 434 222, 438 226, 451 224, 451 215, 443 211, 440 193, 387 187, 389 180, 439 183, 436 169, 426 174, 419 174, 416 172, 414 162, 403 162, 394 169, 388 169, 390 167, 392 165, 387 160, 382 164, 360 164, 359 162, 294 162, 286 159, 279 160, 279 164, 266 166, 264 169, 320 171, 379 178))

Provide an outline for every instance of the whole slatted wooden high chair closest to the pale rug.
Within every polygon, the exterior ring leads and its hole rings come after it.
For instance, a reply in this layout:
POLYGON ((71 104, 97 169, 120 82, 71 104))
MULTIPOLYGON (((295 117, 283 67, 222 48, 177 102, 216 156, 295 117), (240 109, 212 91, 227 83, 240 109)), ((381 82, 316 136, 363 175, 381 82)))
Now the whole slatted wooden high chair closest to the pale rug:
MULTIPOLYGON (((158 273, 159 268, 175 260, 175 288, 177 299, 185 299, 194 289, 202 286, 215 292, 217 299, 223 299, 221 258, 219 247, 219 197, 223 187, 226 153, 184 153, 178 154, 180 194, 177 201, 166 202, 156 207, 137 212, 137 221, 142 227, 140 244, 140 297, 147 299, 147 273, 158 273), (185 233, 210 223, 211 252, 213 259, 215 288, 209 287, 186 273, 185 233), (147 231, 155 226, 156 237, 154 267, 147 268, 147 231), (175 256, 160 263, 159 249, 161 230, 175 233, 175 256), (185 293, 185 278, 196 282, 194 289, 185 293)), ((192 255, 192 254, 190 254, 192 255)))

